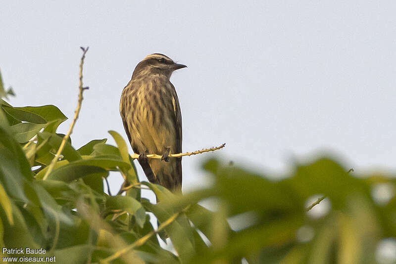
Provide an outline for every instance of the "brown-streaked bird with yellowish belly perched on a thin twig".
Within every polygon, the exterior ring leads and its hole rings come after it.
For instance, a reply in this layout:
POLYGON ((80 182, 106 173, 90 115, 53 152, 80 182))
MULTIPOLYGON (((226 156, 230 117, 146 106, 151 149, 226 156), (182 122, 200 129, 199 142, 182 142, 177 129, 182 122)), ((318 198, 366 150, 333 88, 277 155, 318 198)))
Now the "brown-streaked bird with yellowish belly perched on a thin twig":
POLYGON ((164 54, 149 54, 136 66, 120 100, 124 129, 145 175, 174 193, 182 189, 182 158, 169 154, 182 152, 182 114, 169 79, 186 67, 164 54), (148 159, 147 154, 162 157, 148 159))

